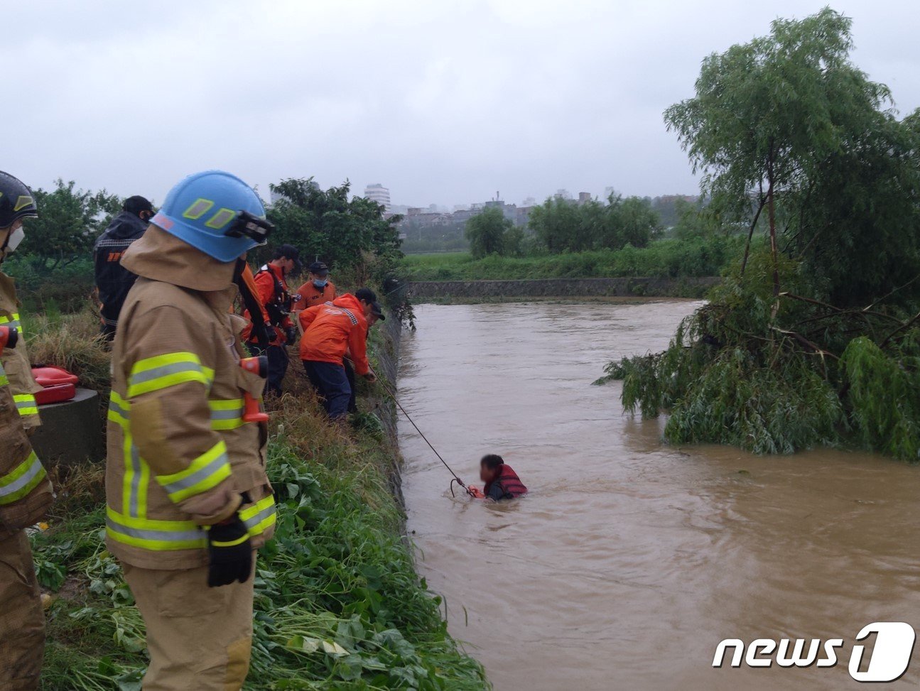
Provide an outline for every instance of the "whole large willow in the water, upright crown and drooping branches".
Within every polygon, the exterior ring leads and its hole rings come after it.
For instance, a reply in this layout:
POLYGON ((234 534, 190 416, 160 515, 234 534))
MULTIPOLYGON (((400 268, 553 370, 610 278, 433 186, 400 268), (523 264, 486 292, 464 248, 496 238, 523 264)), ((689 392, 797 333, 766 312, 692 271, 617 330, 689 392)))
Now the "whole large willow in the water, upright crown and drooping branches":
POLYGON ((738 266, 667 351, 608 366, 673 443, 857 443, 920 462, 920 114, 849 61, 831 9, 710 55, 665 113, 738 266), (768 250, 751 238, 765 228, 768 250))

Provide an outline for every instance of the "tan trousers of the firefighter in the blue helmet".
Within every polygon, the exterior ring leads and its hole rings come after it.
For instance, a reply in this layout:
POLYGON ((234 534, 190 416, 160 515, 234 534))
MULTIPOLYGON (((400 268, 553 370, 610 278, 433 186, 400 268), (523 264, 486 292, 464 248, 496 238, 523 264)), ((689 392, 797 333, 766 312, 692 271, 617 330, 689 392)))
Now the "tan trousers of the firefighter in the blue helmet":
POLYGON ((144 691, 239 691, 252 649, 253 578, 208 588, 206 566, 121 566, 147 627, 144 691))

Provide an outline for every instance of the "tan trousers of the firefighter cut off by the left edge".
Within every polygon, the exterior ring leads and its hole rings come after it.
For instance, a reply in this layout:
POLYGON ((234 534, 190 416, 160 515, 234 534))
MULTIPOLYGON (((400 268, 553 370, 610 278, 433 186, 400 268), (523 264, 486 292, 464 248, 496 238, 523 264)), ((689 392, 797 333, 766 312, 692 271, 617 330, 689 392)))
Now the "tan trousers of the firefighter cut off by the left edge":
POLYGON ((0 537, 0 689, 35 691, 45 649, 45 618, 25 530, 0 537))

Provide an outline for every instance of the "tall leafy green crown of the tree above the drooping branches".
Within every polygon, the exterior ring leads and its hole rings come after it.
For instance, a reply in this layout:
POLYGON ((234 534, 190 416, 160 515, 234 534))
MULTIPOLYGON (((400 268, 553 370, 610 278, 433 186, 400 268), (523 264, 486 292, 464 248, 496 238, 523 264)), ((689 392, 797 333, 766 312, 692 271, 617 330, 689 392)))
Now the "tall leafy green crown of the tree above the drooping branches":
POLYGON ((749 237, 765 225, 774 294, 782 250, 804 259, 827 295, 883 293, 917 268, 916 233, 904 233, 917 218, 916 139, 883 109, 888 88, 849 61, 848 17, 825 8, 771 26, 769 36, 707 57, 696 96, 665 121, 704 172, 702 190, 722 220, 743 221, 749 237), (879 233, 900 236, 900 259, 850 251, 872 247, 879 233), (865 280, 858 291, 841 284, 855 273, 865 280))

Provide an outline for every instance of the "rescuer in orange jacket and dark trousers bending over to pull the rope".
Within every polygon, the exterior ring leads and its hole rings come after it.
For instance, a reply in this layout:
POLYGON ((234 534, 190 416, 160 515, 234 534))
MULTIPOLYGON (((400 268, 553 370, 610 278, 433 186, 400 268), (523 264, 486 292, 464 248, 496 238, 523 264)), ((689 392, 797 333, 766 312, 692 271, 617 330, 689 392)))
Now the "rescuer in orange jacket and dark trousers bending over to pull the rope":
POLYGON ((300 339, 300 359, 306 374, 323 399, 329 418, 340 420, 348 414, 351 385, 343 360, 350 353, 355 370, 374 381, 367 362, 367 332, 377 319, 385 319, 370 288, 344 294, 331 305, 316 305, 298 315, 304 335, 300 339))

